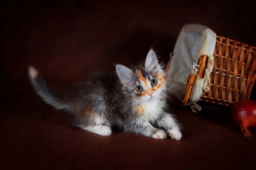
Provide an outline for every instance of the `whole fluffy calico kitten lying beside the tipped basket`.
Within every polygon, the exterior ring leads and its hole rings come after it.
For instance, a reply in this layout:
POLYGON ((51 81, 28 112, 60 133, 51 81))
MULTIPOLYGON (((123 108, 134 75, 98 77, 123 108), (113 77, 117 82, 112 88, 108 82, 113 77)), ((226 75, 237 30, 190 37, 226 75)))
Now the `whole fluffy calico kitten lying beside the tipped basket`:
POLYGON ((70 111, 74 126, 101 136, 111 135, 115 125, 128 133, 154 139, 166 139, 168 134, 180 140, 180 126, 166 112, 165 76, 164 66, 152 50, 144 64, 131 69, 116 65, 116 73, 95 72, 65 94, 53 91, 38 71, 29 67, 36 93, 54 108, 70 111))

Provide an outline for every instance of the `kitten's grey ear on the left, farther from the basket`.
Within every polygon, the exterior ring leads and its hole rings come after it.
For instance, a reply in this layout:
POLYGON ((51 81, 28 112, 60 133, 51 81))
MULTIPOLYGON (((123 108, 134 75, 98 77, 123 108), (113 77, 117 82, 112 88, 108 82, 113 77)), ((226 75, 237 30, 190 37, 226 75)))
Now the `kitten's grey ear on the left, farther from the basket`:
POLYGON ((131 69, 123 65, 116 65, 116 72, 122 84, 131 85, 133 83, 134 72, 131 69))

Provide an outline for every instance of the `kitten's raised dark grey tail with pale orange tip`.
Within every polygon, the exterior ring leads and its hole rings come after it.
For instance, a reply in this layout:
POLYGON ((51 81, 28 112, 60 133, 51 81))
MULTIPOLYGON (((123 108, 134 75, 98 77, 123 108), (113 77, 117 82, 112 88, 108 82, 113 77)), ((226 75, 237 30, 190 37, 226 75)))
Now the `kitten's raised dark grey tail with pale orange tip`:
POLYGON ((49 105, 56 109, 69 110, 68 105, 61 102, 61 96, 56 91, 53 91, 44 79, 39 75, 39 72, 32 66, 29 66, 29 79, 36 93, 49 105))

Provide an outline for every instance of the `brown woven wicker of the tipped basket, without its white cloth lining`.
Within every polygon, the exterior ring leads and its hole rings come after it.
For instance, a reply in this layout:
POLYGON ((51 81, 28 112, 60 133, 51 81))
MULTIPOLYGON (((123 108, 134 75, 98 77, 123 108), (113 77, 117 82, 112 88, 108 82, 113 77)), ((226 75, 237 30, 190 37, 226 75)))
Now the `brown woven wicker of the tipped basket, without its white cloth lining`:
MULTIPOLYGON (((217 36, 214 67, 210 74, 210 89, 200 98, 203 102, 232 106, 241 99, 249 99, 256 79, 256 48, 251 45, 217 36)), ((201 56, 198 75, 204 75, 208 57, 201 56)), ((169 64, 168 64, 169 67, 169 64)), ((196 76, 189 75, 182 104, 186 105, 196 76)))

